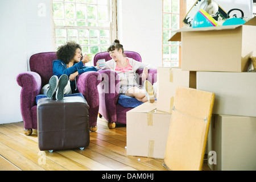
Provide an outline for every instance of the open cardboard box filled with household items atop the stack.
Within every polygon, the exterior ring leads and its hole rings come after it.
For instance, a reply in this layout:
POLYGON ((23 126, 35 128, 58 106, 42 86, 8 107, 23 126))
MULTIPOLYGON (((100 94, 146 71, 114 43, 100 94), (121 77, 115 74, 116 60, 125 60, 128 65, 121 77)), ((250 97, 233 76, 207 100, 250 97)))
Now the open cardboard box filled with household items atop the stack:
POLYGON ((181 68, 187 71, 245 72, 256 52, 256 17, 243 25, 181 28, 181 68))

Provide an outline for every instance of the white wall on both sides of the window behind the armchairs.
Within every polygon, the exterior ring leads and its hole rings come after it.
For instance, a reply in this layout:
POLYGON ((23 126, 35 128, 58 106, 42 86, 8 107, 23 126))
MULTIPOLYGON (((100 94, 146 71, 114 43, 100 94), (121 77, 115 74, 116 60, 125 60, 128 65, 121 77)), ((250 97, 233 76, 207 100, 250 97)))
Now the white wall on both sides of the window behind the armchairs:
MULTIPOLYGON (((162 65, 162 1, 118 0, 118 39, 144 62, 162 65), (122 2, 122 3, 120 3, 122 2)), ((16 76, 31 55, 53 51, 51 0, 0 0, 0 124, 22 121, 16 76), (45 8, 44 8, 45 6, 45 8)))

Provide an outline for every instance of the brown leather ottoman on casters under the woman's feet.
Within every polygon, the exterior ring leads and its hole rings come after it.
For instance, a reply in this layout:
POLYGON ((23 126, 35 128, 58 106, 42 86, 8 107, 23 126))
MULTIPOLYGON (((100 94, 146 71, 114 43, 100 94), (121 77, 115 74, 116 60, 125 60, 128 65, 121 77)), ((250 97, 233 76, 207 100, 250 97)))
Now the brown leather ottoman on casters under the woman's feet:
POLYGON ((79 96, 38 100, 38 145, 41 151, 87 147, 90 142, 89 106, 79 96))

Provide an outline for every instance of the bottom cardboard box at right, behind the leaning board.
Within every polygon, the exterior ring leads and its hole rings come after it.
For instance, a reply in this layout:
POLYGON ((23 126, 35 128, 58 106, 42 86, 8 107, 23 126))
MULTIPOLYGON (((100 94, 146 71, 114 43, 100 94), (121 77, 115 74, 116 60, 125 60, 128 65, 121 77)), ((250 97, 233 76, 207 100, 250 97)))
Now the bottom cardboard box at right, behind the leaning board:
POLYGON ((213 115, 208 134, 208 152, 216 153, 208 155, 208 166, 218 171, 256 171, 255 143, 255 117, 213 115))

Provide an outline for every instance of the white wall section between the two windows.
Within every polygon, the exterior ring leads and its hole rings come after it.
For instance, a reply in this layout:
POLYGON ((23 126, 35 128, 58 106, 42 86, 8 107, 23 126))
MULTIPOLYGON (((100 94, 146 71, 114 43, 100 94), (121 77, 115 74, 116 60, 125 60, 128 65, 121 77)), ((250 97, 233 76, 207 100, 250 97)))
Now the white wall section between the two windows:
POLYGON ((162 66, 160 0, 118 0, 118 39, 126 51, 136 51, 144 63, 162 66))

